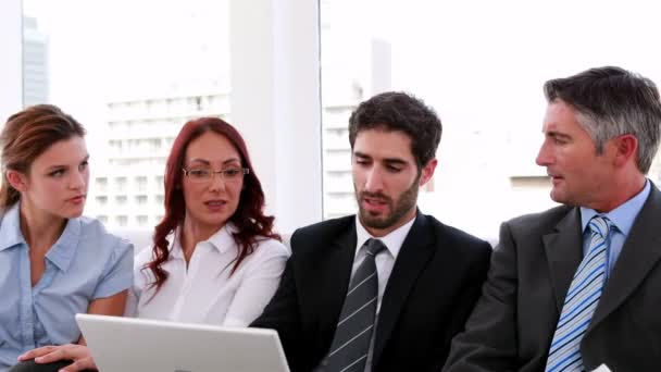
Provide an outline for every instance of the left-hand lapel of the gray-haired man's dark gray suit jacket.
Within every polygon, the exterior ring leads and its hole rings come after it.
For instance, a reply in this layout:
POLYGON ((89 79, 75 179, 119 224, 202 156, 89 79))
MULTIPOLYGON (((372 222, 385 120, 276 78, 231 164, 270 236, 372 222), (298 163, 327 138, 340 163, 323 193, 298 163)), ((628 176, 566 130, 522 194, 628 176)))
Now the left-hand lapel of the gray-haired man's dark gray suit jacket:
POLYGON ((571 209, 558 223, 556 231, 544 235, 541 239, 548 259, 558 313, 561 313, 564 297, 572 284, 576 268, 583 259, 583 235, 578 209, 571 209))

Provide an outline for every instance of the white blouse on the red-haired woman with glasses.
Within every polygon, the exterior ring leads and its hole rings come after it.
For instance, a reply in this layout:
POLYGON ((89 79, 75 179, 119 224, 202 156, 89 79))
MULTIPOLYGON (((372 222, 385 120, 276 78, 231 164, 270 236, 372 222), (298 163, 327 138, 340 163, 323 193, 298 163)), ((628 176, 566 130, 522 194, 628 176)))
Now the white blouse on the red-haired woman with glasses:
POLYGON ((141 250, 135 259, 134 285, 125 315, 225 326, 249 325, 277 289, 289 250, 275 239, 263 238, 229 276, 238 253, 232 237, 234 231, 233 224, 226 224, 208 240, 198 243, 188 269, 176 234, 170 259, 162 265, 169 276, 158 293, 148 287, 153 283, 152 272, 142 270, 152 260, 152 248, 141 250))

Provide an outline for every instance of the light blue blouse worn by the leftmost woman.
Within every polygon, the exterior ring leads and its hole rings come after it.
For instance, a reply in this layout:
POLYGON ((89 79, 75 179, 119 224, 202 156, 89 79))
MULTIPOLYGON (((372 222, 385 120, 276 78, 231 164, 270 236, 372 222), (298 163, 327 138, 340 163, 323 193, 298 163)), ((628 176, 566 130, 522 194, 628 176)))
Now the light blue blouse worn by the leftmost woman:
POLYGON ((0 371, 35 347, 75 343, 74 315, 90 301, 133 284, 133 245, 97 220, 71 219, 46 255, 46 270, 30 283, 28 247, 18 203, 0 216, 0 371))

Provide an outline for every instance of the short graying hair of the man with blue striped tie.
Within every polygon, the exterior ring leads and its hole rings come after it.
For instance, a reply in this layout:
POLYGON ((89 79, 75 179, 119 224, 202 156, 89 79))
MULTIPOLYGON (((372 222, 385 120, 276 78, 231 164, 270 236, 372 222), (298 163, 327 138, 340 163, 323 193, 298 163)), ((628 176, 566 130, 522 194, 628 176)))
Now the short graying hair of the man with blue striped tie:
POLYGON ((548 102, 561 100, 603 152, 606 142, 631 134, 638 139, 637 166, 647 174, 661 137, 661 100, 652 80, 621 67, 599 67, 546 82, 548 102))

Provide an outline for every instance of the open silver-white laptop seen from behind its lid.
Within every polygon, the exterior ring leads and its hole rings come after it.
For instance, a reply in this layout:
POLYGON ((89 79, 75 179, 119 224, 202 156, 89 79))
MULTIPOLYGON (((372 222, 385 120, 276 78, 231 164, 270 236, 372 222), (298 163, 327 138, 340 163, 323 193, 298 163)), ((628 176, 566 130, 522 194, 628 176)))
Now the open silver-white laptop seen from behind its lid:
POLYGON ((277 332, 76 314, 100 372, 289 372, 277 332))

